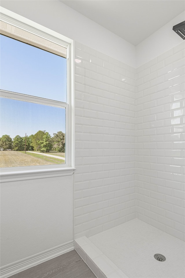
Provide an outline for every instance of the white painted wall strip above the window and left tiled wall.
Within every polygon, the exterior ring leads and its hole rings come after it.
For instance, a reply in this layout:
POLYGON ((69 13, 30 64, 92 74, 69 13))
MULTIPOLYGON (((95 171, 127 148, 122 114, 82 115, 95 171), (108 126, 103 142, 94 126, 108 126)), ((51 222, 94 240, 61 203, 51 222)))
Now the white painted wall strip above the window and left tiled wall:
POLYGON ((60 1, 1 1, 1 6, 135 67, 136 47, 60 1))

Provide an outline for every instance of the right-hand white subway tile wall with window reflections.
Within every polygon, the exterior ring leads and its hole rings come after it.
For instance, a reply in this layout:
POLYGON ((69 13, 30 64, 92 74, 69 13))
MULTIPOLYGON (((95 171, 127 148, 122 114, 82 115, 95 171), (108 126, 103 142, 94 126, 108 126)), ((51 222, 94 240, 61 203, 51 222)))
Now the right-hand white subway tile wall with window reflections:
POLYGON ((184 42, 136 70, 137 217, 184 240, 184 42))

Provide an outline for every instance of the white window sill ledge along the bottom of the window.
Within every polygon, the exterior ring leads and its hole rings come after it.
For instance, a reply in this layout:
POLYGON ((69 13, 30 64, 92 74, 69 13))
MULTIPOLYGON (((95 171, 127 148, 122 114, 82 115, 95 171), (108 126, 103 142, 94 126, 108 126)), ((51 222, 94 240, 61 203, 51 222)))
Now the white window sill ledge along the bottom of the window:
POLYGON ((59 168, 59 167, 37 167, 32 166, 25 167, 15 167, 15 168, 1 168, 1 183, 8 181, 22 181, 28 179, 43 179, 49 177, 60 177, 73 175, 75 168, 59 168))

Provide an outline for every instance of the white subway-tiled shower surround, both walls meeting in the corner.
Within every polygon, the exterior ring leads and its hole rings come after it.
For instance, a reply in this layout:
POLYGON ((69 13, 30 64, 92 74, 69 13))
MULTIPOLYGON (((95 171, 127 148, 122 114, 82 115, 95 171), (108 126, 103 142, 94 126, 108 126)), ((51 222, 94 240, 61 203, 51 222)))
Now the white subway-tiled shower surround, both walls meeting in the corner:
POLYGON ((184 42, 137 69, 75 42, 75 239, 138 218, 184 240, 184 65, 184 42))

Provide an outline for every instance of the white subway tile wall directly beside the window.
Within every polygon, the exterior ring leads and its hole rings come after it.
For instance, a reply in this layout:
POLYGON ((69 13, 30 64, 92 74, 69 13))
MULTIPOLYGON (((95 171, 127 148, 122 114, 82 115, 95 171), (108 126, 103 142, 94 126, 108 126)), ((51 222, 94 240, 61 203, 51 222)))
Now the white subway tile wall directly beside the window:
POLYGON ((75 42, 75 238, 136 217, 135 71, 75 42))

